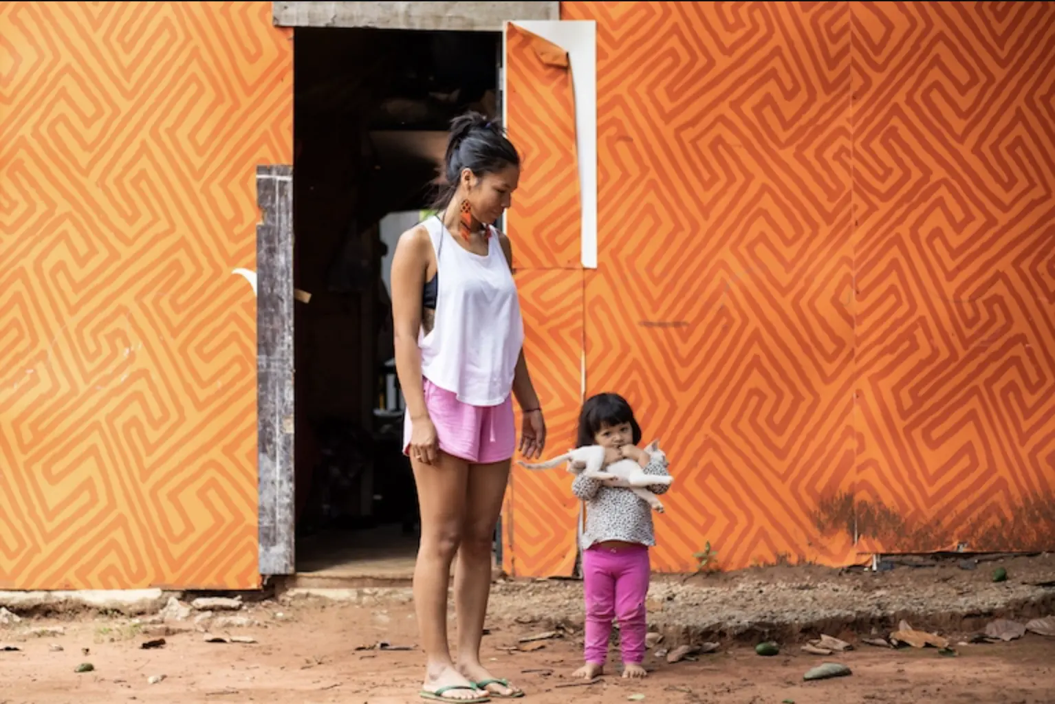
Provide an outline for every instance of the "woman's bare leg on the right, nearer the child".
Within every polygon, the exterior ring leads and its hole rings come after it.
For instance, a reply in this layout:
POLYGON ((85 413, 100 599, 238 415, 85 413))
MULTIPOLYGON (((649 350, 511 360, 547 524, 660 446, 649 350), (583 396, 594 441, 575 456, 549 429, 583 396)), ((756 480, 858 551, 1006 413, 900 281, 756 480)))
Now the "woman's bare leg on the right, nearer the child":
MULTIPOLYGON (((468 491, 458 564, 455 568, 455 609, 458 612, 458 669, 473 682, 494 676, 480 664, 480 641, 491 595, 493 542, 502 500, 510 478, 510 459, 491 465, 469 465, 468 491)), ((492 684, 492 693, 515 689, 492 684)))

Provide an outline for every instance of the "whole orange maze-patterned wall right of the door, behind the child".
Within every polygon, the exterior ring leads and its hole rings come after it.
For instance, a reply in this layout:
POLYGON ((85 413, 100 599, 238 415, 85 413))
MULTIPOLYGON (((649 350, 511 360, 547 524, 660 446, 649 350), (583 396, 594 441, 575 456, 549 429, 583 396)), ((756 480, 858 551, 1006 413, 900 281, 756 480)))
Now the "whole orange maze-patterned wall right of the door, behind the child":
POLYGON ((561 18, 598 32, 587 394, 671 457, 656 569, 1055 546, 1055 7, 561 18))

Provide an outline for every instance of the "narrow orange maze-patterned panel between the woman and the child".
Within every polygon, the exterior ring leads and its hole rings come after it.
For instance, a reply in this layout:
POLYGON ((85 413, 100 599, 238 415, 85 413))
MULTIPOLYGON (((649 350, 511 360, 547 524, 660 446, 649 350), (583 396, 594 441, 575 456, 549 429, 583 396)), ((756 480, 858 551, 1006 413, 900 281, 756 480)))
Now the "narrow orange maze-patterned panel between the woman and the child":
MULTIPOLYGON (((546 454, 575 446, 582 405, 583 271, 575 96, 564 50, 516 24, 505 35, 510 139, 523 169, 505 220, 524 318, 524 357, 545 409, 546 454)), ((516 404, 517 427, 521 415, 516 404)), ((514 463, 502 512, 513 575, 572 574, 580 503, 563 469, 514 463)))

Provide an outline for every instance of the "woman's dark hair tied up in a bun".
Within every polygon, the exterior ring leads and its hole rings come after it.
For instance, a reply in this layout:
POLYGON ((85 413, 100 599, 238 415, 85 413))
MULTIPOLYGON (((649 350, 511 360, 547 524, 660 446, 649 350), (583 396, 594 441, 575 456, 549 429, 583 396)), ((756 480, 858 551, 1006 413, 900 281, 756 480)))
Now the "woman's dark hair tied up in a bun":
POLYGON ((477 176, 493 174, 506 167, 519 167, 520 155, 498 120, 468 112, 450 121, 447 152, 443 157, 443 184, 433 208, 443 210, 450 204, 462 169, 477 176))

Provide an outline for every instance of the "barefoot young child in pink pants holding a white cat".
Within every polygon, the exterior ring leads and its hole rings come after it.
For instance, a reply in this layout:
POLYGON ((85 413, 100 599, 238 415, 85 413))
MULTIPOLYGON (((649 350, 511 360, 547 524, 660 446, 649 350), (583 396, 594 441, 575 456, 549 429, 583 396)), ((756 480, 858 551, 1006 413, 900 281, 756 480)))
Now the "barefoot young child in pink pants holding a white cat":
MULTIPOLYGON (((646 474, 669 476, 667 458, 640 450, 641 429, 625 398, 614 393, 593 396, 579 414, 577 447, 608 448, 606 464, 622 457, 637 462, 646 474)), ((667 486, 648 487, 655 494, 667 486)), ((579 474, 572 484, 576 496, 587 502, 582 533, 582 582, 586 591, 586 664, 574 677, 593 679, 605 669, 612 620, 618 619, 622 650, 622 677, 646 677, 645 635, 649 592, 649 547, 655 545, 652 509, 630 489, 579 474)))

